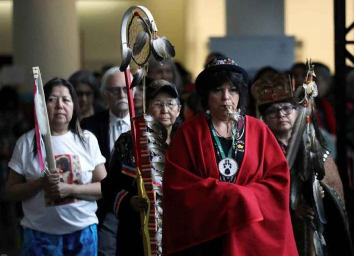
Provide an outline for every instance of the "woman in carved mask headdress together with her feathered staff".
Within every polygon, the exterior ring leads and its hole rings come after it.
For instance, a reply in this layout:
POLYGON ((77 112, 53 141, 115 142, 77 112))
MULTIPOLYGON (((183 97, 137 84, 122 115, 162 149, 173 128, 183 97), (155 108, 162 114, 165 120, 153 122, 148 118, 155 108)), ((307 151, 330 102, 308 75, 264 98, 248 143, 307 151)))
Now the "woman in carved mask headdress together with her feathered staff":
MULTIPOLYGON (((305 83, 307 91, 302 88, 298 90, 299 95, 305 91, 313 93, 309 94, 309 101, 316 91, 314 82, 311 82, 308 79, 305 83)), ((325 141, 319 130, 315 131, 316 123, 312 119, 316 116, 315 111, 312 109, 311 115, 307 108, 311 107, 311 103, 305 106, 299 104, 292 81, 285 74, 271 74, 255 81, 251 92, 263 121, 275 135, 290 166, 290 213, 299 254, 352 255, 342 203, 344 197, 341 179, 325 141), (312 136, 311 139, 309 136, 312 136), (312 147, 307 146, 309 141, 312 147), (337 229, 334 229, 336 226, 337 229)))

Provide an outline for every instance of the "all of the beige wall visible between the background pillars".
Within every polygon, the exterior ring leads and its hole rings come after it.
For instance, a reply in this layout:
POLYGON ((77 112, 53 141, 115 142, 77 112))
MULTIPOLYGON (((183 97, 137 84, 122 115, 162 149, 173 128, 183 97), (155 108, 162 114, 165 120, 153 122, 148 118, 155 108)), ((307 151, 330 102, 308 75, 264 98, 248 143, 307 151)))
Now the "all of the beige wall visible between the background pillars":
MULTIPOLYGON (((334 68, 333 0, 284 0, 285 34, 302 42, 296 60, 306 57, 334 68)), ((346 0, 347 23, 354 20, 354 1, 346 0)), ((120 26, 124 11, 144 5, 154 15, 160 36, 176 49, 194 77, 208 53, 208 38, 225 35, 225 0, 77 0, 86 69, 120 62, 120 26)), ((70 36, 70 35, 68 35, 70 36)), ((12 54, 12 1, 0 1, 0 54, 12 54)), ((354 31, 348 40, 354 40, 354 31)), ((348 47, 354 53, 354 46, 348 47)))

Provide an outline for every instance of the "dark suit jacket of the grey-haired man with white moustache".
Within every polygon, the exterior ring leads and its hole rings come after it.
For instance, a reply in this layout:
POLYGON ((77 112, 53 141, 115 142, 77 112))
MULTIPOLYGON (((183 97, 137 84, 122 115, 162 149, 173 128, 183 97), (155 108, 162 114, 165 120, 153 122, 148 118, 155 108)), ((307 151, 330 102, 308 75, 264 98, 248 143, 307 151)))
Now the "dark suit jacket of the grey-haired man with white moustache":
MULTIPOLYGON (((84 118, 81 120, 81 128, 92 132, 97 140, 100 147, 102 155, 106 158, 105 167, 108 172, 110 152, 109 152, 109 110, 99 112, 93 116, 84 118)), ((107 211, 109 210, 109 205, 106 200, 101 199, 97 201, 97 217, 99 220, 99 226, 102 224, 107 211)))

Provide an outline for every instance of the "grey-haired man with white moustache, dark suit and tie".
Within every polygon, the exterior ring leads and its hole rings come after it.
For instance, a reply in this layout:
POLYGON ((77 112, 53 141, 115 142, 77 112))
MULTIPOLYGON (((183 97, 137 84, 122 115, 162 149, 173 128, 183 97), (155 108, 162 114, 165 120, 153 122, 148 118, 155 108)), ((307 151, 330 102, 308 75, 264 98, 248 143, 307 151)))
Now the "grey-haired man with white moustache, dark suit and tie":
MULTIPOLYGON (((107 70, 102 77, 101 95, 109 109, 81 121, 82 129, 96 135, 100 150, 106 157, 105 167, 109 170, 115 140, 130 130, 130 116, 124 73, 119 67, 107 70)), ((115 255, 118 221, 104 200, 98 201, 98 255, 115 255)))

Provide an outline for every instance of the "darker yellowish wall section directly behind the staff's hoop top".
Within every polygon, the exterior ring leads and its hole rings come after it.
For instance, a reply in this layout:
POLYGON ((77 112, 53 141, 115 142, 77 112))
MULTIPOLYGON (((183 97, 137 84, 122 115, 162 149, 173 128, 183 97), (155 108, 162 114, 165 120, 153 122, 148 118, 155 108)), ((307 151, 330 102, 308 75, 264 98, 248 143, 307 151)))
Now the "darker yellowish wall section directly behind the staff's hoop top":
POLYGON ((176 60, 185 61, 185 1, 77 1, 86 69, 99 70, 102 65, 119 65, 121 61, 121 22, 124 12, 133 5, 150 10, 158 35, 166 36, 175 46, 176 60))

